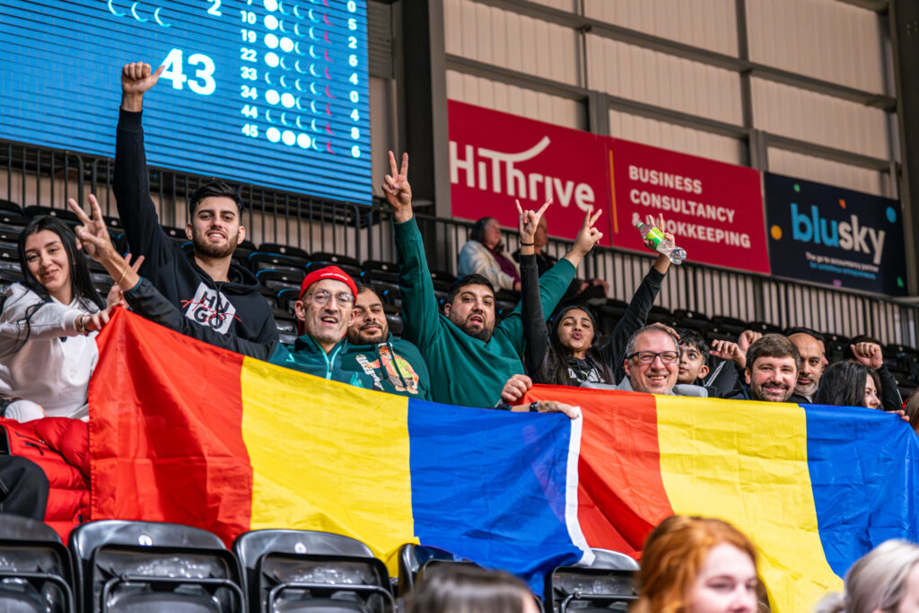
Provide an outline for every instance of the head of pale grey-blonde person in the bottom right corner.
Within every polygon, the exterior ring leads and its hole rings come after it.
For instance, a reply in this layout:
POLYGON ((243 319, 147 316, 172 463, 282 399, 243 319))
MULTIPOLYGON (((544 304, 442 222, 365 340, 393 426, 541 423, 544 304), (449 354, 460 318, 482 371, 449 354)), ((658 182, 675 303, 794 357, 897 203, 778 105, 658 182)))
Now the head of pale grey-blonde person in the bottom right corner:
POLYGON ((845 573, 845 594, 831 594, 814 613, 906 613, 919 603, 919 545, 890 539, 845 573))

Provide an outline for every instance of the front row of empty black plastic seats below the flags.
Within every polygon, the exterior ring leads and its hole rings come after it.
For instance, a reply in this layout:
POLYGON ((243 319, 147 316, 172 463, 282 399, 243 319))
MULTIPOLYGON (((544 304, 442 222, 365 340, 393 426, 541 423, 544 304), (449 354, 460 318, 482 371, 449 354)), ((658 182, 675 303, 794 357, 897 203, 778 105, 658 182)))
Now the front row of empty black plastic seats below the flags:
MULTIPOLYGON (((634 599, 637 563, 594 552, 590 566, 547 575, 546 610, 634 599)), ((231 551, 199 528, 121 520, 75 528, 68 549, 38 521, 0 516, 0 609, 8 611, 393 613, 432 566, 471 564, 414 544, 397 563, 398 581, 367 545, 325 532, 254 530, 231 551)))

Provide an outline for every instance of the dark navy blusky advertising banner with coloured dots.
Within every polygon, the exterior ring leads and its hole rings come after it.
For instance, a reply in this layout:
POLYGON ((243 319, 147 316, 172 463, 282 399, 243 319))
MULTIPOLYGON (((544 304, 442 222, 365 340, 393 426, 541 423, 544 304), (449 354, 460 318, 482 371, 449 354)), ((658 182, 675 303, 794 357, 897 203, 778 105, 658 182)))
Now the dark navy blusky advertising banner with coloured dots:
POLYGON ((774 275, 906 293, 898 201, 790 176, 764 177, 774 275))

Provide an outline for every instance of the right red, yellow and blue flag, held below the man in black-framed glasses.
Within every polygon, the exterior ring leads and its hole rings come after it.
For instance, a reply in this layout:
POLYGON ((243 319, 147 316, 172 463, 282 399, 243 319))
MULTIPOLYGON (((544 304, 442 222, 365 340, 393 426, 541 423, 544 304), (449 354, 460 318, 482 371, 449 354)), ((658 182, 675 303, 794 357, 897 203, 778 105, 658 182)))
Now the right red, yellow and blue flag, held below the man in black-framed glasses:
POLYGON ((587 542, 638 555, 674 514, 753 539, 773 611, 810 611, 859 557, 919 537, 919 438, 898 415, 538 386, 580 405, 587 542))

